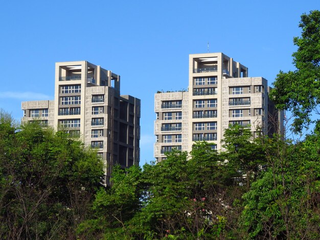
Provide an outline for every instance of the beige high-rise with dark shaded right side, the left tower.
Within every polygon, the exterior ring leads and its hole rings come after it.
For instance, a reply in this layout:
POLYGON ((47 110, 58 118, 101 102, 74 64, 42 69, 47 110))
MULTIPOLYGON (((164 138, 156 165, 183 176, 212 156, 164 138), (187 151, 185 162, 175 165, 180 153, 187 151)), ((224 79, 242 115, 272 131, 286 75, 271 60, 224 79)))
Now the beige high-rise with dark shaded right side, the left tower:
POLYGON ((140 100, 120 95, 120 76, 87 61, 58 62, 53 101, 22 102, 23 122, 79 136, 111 167, 139 164, 140 100))

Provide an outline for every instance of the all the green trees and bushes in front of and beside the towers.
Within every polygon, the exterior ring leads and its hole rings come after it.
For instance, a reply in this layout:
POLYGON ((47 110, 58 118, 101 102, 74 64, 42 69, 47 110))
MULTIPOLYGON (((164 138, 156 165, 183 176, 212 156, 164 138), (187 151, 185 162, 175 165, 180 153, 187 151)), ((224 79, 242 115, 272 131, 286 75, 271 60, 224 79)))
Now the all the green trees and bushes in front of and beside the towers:
MULTIPOLYGON (((319 11, 302 15, 297 70, 272 92, 296 131, 320 103, 319 22, 319 11)), ((300 142, 234 126, 224 152, 197 142, 157 164, 115 166, 105 187, 103 163, 80 141, 0 111, 0 238, 320 239, 319 137, 320 124, 300 142)))

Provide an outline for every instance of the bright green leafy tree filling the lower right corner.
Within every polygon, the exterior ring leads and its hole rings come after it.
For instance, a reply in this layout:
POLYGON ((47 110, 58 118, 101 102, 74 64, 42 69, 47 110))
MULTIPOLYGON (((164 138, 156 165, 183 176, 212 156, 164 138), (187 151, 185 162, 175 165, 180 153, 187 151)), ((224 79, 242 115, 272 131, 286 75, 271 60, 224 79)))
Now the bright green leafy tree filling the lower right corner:
POLYGON ((251 238, 319 239, 318 135, 264 142, 268 167, 244 194, 240 228, 251 238))

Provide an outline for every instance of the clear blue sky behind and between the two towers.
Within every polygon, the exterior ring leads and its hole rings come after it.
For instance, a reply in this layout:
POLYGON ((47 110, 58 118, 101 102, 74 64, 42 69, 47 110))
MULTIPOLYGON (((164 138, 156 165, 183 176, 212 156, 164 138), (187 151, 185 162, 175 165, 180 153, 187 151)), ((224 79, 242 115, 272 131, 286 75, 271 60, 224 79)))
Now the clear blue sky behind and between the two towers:
POLYGON ((269 85, 292 70, 300 15, 319 0, 2 1, 0 108, 53 100, 55 62, 87 60, 142 100, 141 164, 153 161, 154 93, 188 87, 189 54, 223 52, 269 85))

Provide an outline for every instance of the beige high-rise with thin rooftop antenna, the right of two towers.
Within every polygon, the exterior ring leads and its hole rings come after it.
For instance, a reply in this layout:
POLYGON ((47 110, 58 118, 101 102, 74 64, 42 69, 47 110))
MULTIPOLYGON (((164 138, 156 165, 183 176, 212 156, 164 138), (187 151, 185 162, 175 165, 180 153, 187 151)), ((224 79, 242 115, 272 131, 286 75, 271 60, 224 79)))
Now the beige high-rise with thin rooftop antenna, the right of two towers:
POLYGON ((189 57, 189 88, 155 94, 154 157, 172 149, 191 151, 195 141, 221 149, 224 129, 240 124, 272 135, 283 131, 283 112, 268 98, 267 80, 248 77, 248 68, 223 53, 189 57))

